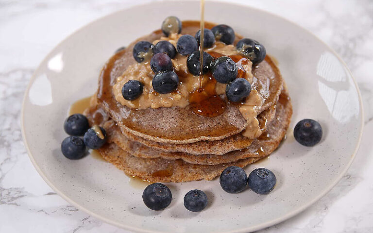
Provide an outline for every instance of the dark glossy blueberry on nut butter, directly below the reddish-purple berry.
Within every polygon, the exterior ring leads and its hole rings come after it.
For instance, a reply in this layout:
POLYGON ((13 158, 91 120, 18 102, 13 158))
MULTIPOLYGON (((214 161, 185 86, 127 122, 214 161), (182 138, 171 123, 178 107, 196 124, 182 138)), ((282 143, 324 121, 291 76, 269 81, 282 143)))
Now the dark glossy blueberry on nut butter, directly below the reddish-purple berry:
POLYGON ((167 94, 176 90, 179 84, 179 76, 173 71, 163 71, 153 77, 152 85, 154 91, 167 94))

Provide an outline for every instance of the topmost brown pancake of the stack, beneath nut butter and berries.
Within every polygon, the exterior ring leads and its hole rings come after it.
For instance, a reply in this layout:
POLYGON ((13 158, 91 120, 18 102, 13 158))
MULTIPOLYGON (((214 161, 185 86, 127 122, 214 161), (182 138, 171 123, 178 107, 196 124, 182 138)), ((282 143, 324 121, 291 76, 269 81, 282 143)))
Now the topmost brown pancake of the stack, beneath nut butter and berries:
MULTIPOLYGON (((214 24, 206 23, 206 28, 214 24)), ((198 21, 183 21, 183 34, 194 35, 199 30, 198 21)), ((238 105, 227 104, 223 114, 206 117, 194 114, 189 106, 157 109, 130 109, 121 105, 113 95, 112 87, 124 70, 136 63, 132 50, 136 42, 153 42, 160 39, 161 31, 155 31, 141 37, 106 63, 102 68, 97 99, 103 109, 118 123, 122 131, 132 133, 144 139, 168 144, 186 144, 202 140, 220 140, 241 132, 247 126, 246 120, 238 111, 238 105)), ((236 36, 236 41, 242 38, 236 36)), ((283 81, 277 67, 267 56, 257 67, 253 67, 253 86, 265 98, 260 112, 274 105, 281 93, 283 81), (256 79, 255 79, 256 78, 256 79), (268 92, 266 92, 268 90, 268 92), (266 94, 267 93, 267 94, 266 94)))

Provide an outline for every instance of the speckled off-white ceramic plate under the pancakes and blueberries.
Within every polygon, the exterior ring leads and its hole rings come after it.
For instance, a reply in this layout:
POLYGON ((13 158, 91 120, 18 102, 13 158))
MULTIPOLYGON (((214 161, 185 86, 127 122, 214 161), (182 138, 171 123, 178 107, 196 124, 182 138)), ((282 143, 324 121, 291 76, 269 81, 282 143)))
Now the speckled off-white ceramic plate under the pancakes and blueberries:
POLYGON ((277 176, 274 191, 228 194, 219 179, 169 183, 173 200, 166 210, 155 212, 142 202, 145 184, 93 156, 72 161, 61 154, 69 105, 94 93, 100 69, 114 50, 158 29, 169 15, 199 19, 198 1, 156 1, 103 17, 73 33, 51 51, 31 79, 22 111, 25 145, 37 171, 61 197, 135 232, 247 233, 298 214, 346 172, 359 145, 363 113, 356 83, 338 55, 281 17, 223 2, 207 1, 205 9, 206 20, 228 24, 262 42, 277 58, 288 84, 294 114, 287 139, 270 158, 246 167, 247 172, 271 169, 277 176), (303 118, 322 124, 324 135, 315 147, 301 146, 292 136, 303 118), (201 213, 183 206, 184 195, 195 188, 209 197, 201 213))

